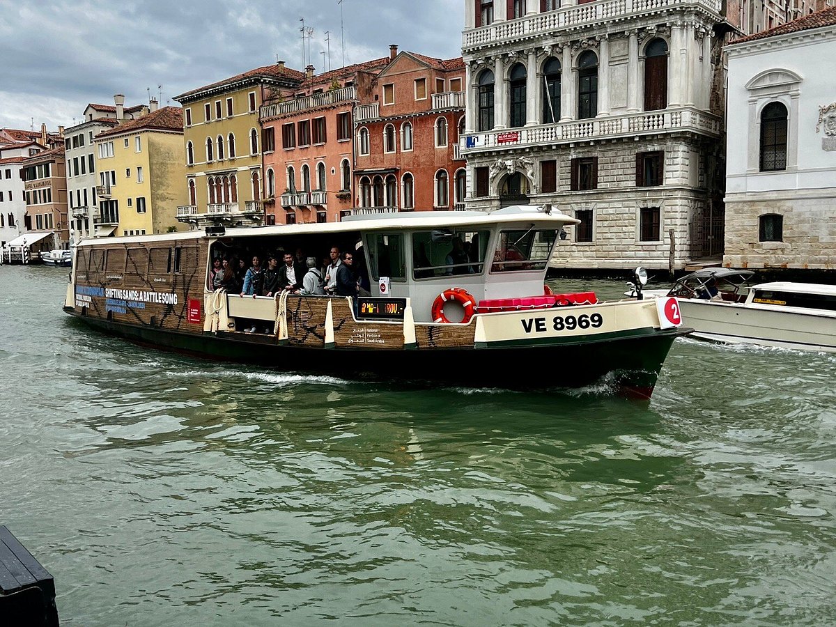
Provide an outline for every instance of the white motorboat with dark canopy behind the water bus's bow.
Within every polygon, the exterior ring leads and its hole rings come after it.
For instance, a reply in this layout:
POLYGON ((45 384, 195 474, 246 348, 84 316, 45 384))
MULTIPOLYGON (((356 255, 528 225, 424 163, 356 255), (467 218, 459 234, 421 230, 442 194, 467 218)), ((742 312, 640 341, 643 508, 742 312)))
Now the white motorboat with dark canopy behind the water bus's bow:
POLYGON ((836 286, 752 284, 754 277, 750 270, 705 268, 644 295, 675 296, 695 338, 836 352, 836 286))

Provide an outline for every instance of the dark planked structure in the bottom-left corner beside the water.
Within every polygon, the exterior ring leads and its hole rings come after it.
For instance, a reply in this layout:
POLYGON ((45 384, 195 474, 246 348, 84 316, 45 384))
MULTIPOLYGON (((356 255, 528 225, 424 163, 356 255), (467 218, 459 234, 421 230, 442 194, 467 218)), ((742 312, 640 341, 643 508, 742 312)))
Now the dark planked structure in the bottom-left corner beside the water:
POLYGON ((0 525, 0 622, 58 627, 55 583, 32 553, 0 525))

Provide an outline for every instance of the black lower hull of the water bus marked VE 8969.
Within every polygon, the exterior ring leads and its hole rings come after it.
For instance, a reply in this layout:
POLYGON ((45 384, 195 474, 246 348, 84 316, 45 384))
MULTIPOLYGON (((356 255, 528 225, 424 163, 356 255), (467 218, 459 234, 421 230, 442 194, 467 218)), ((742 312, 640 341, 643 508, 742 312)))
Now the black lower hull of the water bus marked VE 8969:
POLYGON ((279 364, 292 364, 294 372, 347 379, 435 381, 507 390, 577 388, 605 381, 619 395, 642 400, 650 399, 670 345, 691 331, 651 329, 648 334, 579 344, 486 349, 319 349, 278 344, 267 334, 180 333, 81 316, 72 308, 65 311, 96 329, 138 344, 264 365, 270 370, 281 369, 279 364))

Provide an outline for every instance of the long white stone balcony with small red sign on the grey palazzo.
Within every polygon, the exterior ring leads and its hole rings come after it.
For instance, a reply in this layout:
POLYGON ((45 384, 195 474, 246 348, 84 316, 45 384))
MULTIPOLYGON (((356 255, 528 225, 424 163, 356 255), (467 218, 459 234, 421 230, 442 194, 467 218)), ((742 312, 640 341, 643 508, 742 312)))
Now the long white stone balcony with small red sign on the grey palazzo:
POLYGON ((671 131, 692 132, 720 137, 721 120, 689 107, 642 111, 624 115, 605 115, 591 120, 571 120, 556 124, 523 126, 518 129, 471 133, 461 138, 461 155, 490 150, 571 144, 578 141, 611 140, 671 131))

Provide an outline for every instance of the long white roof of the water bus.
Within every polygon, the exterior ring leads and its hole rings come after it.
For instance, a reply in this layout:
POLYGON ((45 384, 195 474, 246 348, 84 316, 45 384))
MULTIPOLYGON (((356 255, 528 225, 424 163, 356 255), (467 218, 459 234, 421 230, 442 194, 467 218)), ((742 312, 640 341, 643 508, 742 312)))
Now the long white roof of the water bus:
MULTIPOLYGON (((268 237, 316 235, 321 233, 344 233, 355 231, 405 231, 423 230, 427 228, 462 227, 462 226, 493 226, 515 224, 530 225, 532 223, 542 227, 559 228, 564 224, 579 224, 580 221, 568 217, 558 209, 546 213, 540 206, 517 205, 507 206, 496 212, 398 212, 380 215, 360 215, 344 218, 342 222, 319 222, 309 224, 281 224, 273 227, 232 227, 227 228, 223 235, 210 237, 268 237)), ((207 237, 202 229, 199 231, 163 233, 160 235, 140 235, 133 237, 116 237, 113 240, 91 238, 79 242, 79 246, 95 244, 135 243, 135 242, 165 242, 166 240, 185 240, 207 237)))

